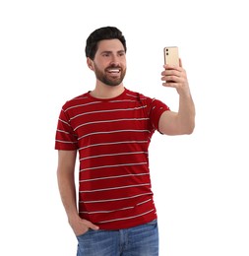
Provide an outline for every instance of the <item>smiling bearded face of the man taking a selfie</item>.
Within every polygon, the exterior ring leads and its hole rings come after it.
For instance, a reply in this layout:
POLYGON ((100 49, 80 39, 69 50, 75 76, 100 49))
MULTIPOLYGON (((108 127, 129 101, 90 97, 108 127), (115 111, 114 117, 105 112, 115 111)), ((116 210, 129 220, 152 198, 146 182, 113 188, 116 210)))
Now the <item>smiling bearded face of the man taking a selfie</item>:
POLYGON ((122 83, 126 73, 126 55, 119 39, 101 40, 93 59, 97 80, 111 87, 122 83))

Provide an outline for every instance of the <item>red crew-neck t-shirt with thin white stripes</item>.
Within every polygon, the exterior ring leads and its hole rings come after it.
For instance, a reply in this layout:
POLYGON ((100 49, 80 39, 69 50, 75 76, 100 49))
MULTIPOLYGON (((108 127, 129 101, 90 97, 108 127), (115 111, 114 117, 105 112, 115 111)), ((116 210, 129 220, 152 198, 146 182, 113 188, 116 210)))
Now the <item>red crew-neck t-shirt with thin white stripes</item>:
POLYGON ((127 89, 108 99, 86 93, 63 105, 55 149, 79 151, 81 218, 103 229, 156 219, 148 148, 165 110, 160 100, 127 89))

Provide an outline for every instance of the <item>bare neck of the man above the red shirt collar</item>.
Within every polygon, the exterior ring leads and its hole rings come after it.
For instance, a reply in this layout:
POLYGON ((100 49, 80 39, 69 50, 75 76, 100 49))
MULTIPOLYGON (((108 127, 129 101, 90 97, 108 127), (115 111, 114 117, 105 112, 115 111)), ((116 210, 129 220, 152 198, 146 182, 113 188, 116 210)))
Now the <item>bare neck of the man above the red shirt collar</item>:
POLYGON ((123 84, 115 87, 110 86, 96 86, 95 89, 90 93, 91 96, 97 98, 111 98, 120 96, 124 92, 125 88, 123 84))

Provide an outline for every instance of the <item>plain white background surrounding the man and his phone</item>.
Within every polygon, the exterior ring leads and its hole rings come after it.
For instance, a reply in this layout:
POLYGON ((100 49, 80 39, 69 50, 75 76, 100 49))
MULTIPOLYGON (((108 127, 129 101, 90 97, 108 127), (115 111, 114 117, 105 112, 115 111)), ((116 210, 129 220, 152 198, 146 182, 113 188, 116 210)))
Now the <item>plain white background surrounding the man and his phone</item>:
POLYGON ((0 255, 72 256, 54 136, 65 100, 92 90, 85 42, 116 26, 125 86, 177 110, 161 87, 162 48, 178 45, 196 103, 191 136, 150 148, 161 256, 249 255, 246 1, 6 0, 0 4, 0 255))

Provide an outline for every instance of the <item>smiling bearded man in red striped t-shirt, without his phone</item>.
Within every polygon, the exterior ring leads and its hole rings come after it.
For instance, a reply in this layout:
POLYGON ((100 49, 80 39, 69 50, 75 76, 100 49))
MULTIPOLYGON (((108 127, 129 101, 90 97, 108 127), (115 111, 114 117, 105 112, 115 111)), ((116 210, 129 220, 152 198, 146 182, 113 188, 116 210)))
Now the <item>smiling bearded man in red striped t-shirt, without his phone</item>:
POLYGON ((86 45, 95 88, 68 100, 60 112, 55 149, 58 185, 69 224, 78 238, 78 256, 156 256, 158 231, 148 148, 154 132, 191 134, 195 107, 185 70, 164 65, 163 86, 179 94, 173 112, 155 98, 123 85, 126 41, 104 27, 86 45), (79 153, 79 202, 75 163, 79 153))

